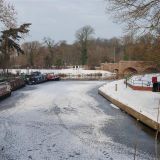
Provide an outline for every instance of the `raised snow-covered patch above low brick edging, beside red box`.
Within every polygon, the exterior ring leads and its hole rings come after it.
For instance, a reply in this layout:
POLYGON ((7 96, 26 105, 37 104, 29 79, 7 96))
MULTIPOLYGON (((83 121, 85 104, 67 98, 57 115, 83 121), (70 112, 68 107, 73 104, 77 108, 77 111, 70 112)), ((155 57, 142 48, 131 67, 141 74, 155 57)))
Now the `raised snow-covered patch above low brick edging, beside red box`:
POLYGON ((158 82, 160 82, 160 73, 153 73, 133 76, 128 80, 128 83, 133 86, 152 87, 152 77, 157 77, 158 82))

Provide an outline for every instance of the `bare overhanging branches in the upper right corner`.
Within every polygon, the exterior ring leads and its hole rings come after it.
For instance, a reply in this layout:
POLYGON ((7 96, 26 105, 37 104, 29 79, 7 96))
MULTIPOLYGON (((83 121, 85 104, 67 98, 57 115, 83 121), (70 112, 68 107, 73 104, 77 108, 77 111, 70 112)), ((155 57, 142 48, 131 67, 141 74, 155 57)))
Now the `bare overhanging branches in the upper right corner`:
POLYGON ((158 33, 160 0, 106 0, 107 12, 118 22, 125 22, 130 31, 158 33))

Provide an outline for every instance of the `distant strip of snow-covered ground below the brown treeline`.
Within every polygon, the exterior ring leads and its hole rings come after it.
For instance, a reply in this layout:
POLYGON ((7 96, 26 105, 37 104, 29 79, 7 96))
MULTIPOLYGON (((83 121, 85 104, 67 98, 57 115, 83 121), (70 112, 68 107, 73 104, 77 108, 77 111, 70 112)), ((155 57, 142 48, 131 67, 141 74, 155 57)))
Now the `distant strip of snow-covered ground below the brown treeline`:
POLYGON ((34 71, 40 71, 41 73, 54 73, 54 74, 67 74, 67 75, 87 75, 87 74, 95 74, 95 73, 102 73, 103 77, 112 75, 111 72, 102 71, 102 70, 84 70, 82 68, 74 69, 10 69, 10 72, 16 74, 17 72, 20 73, 31 73, 34 71))

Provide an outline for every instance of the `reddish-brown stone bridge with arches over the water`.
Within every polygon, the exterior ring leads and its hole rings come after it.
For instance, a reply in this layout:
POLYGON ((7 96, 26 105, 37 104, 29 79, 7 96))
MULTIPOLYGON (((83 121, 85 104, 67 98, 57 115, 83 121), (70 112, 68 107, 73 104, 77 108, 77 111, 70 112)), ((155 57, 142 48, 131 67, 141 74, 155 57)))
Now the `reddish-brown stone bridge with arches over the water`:
POLYGON ((160 68, 150 61, 120 61, 119 63, 102 63, 102 70, 117 73, 119 75, 157 73, 160 68))

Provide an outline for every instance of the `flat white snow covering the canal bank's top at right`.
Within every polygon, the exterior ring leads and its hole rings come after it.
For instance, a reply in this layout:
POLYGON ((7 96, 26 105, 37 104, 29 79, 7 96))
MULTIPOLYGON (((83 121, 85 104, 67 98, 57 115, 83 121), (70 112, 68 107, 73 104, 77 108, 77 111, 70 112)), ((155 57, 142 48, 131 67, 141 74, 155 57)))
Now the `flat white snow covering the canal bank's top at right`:
MULTIPOLYGON (((157 122, 158 107, 160 107, 160 93, 136 91, 130 87, 126 88, 124 80, 108 83, 102 86, 100 90, 157 122), (115 91, 116 84, 118 91, 115 91)), ((158 122, 160 123, 160 117, 158 122)))

